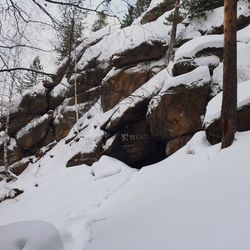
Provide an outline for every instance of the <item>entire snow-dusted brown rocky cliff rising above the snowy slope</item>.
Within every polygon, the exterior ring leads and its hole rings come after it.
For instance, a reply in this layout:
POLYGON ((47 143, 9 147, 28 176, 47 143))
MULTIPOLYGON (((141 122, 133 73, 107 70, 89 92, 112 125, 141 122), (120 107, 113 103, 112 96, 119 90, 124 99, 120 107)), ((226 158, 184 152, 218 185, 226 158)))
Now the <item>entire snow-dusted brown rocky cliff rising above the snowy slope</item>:
MULTIPOLYGON (((152 1, 130 27, 84 38, 50 81, 24 93, 8 129, 15 174, 53 147, 68 149, 69 167, 106 154, 140 168, 171 155, 197 131, 206 129, 210 143, 220 141, 219 116, 203 121, 221 91, 223 2, 204 20, 178 24, 175 58, 165 65, 171 26, 164 21, 174 2, 152 1)), ((250 80, 250 11, 249 3, 238 5, 240 84, 250 80)), ((239 105, 240 131, 250 129, 249 105, 239 105)), ((4 138, 5 119, 1 129, 4 138)), ((1 164, 3 154, 2 142, 1 164)))

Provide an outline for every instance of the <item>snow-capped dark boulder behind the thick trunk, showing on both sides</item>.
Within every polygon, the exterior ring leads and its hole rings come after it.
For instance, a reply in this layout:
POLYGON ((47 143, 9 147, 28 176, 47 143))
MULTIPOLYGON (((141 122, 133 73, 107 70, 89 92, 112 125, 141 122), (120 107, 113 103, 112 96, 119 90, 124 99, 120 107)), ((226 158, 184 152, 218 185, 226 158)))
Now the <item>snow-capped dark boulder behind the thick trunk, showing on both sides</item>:
MULTIPOLYGON (((238 84, 238 111, 237 130, 250 130, 250 81, 238 84)), ((220 110, 222 103, 222 93, 215 96, 207 106, 204 119, 207 140, 211 144, 221 142, 221 121, 220 110)))

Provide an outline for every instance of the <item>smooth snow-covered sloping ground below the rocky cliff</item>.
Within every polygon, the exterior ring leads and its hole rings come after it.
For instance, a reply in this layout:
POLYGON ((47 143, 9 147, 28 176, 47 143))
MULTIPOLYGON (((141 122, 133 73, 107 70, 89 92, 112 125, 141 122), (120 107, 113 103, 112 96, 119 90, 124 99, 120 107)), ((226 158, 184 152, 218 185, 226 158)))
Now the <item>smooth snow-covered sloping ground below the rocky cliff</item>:
POLYGON ((51 223, 66 250, 248 249, 249 141, 250 132, 237 133, 220 150, 199 132, 140 171, 106 156, 67 169, 62 155, 48 155, 12 184, 25 192, 0 204, 0 225, 51 223))

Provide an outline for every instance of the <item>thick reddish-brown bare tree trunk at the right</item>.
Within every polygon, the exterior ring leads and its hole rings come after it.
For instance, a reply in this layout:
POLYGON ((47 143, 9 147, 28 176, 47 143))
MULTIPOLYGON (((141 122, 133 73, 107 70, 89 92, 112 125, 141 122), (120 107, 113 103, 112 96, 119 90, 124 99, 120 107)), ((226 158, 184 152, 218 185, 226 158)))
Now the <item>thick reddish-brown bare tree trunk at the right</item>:
POLYGON ((221 148, 231 146, 237 128, 237 0, 224 0, 224 71, 221 148))

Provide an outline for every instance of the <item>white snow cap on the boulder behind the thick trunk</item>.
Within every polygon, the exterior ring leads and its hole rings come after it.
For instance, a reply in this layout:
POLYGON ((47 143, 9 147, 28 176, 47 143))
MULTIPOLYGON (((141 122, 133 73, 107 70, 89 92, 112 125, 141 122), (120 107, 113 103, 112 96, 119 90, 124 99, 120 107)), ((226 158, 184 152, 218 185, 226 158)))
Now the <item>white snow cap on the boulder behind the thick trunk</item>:
MULTIPOLYGON (((238 109, 250 104, 250 81, 241 82, 238 84, 238 109)), ((222 104, 222 92, 216 95, 207 105, 207 111, 204 119, 204 124, 208 127, 215 119, 220 117, 222 104)))

